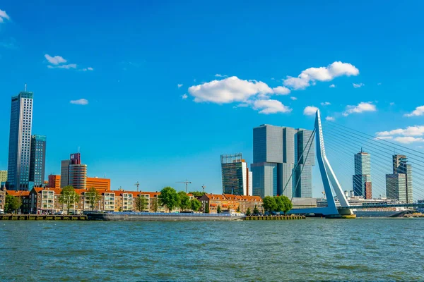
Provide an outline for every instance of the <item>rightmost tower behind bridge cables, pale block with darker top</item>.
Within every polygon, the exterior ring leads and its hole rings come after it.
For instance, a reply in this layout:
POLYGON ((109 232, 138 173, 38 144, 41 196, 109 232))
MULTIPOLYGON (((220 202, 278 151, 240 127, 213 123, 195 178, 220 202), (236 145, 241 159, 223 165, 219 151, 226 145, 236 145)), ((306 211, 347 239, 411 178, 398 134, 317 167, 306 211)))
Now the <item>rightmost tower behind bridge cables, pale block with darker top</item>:
POLYGON ((412 166, 408 164, 408 158, 402 154, 395 154, 392 161, 393 173, 386 175, 387 197, 412 203, 412 166))

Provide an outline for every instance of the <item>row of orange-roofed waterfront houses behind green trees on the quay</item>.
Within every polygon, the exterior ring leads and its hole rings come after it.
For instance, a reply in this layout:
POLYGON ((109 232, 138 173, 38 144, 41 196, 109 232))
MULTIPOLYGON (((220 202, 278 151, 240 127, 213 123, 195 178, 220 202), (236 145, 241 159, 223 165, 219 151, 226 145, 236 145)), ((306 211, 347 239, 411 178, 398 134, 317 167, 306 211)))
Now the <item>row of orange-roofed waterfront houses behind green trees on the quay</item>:
MULTIPOLYGON (((136 192, 125 190, 107 190, 98 189, 100 194, 99 200, 94 203, 90 201, 88 189, 76 189, 79 200, 69 210, 72 214, 81 214, 83 211, 100 210, 105 212, 138 212, 136 207, 136 198, 146 198, 146 207, 142 212, 169 212, 166 207, 162 207, 158 202, 160 192, 136 192)), ((22 206, 19 211, 22 214, 43 214, 57 213, 67 210, 65 204, 59 202, 61 195, 60 188, 33 188, 30 191, 15 191, 0 189, 0 210, 4 209, 6 195, 20 197, 22 206)), ((194 195, 187 194, 190 200, 194 199, 194 195)), ((238 195, 215 195, 205 194, 198 197, 201 201, 201 212, 206 212, 206 207, 210 213, 217 213, 218 206, 221 211, 240 211, 246 212, 247 209, 253 211, 254 207, 261 207, 262 199, 258 196, 238 196, 238 195)), ((177 207, 172 212, 181 212, 177 207)))

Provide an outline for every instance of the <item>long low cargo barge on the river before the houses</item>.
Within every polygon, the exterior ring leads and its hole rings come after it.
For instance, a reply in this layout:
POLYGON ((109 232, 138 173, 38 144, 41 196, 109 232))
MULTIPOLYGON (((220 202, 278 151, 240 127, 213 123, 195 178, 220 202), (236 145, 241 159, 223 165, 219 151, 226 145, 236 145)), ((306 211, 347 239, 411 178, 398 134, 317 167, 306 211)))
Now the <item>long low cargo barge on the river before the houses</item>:
POLYGON ((86 212, 88 220, 99 221, 235 221, 245 214, 196 214, 163 212, 86 212))

